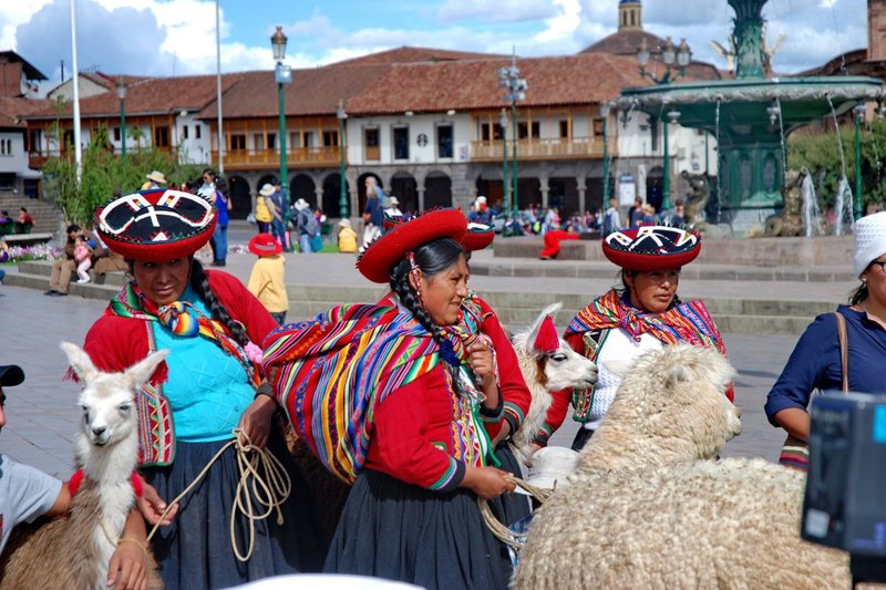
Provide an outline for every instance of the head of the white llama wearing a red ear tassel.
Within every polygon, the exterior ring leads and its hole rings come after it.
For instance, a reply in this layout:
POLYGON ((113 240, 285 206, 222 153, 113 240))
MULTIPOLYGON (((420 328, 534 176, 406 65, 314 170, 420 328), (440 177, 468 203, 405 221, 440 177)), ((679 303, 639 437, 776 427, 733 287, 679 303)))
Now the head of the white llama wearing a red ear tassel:
MULTIPOLYGON (((563 307, 556 302, 538 314, 528 330, 514 335, 514 350, 535 362, 535 382, 547 391, 586 390, 597 383, 597 365, 575 352, 557 335, 554 318, 563 307)), ((528 380, 528 375, 525 375, 528 380)))

